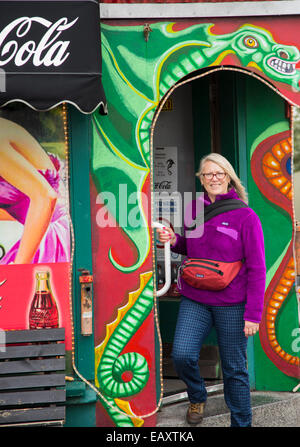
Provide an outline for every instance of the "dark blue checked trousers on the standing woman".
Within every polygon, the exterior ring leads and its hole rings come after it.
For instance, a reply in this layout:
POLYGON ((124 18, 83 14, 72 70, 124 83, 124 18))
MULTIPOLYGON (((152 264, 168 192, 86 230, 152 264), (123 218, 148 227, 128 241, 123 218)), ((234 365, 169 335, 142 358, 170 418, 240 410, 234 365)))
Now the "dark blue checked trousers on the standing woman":
POLYGON ((187 385, 190 402, 205 402, 207 392, 198 361, 202 344, 215 327, 232 427, 249 427, 252 422, 244 310, 244 304, 208 306, 182 297, 172 351, 176 372, 187 385))

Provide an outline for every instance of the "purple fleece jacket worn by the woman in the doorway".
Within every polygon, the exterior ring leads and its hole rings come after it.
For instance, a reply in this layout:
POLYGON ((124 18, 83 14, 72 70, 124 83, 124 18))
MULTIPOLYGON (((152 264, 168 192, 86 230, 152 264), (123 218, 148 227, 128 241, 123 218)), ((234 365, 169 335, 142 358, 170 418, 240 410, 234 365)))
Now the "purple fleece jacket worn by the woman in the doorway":
MULTIPOLYGON (((216 196, 216 201, 224 199, 239 198, 232 188, 227 194, 216 196)), ((210 203, 208 195, 204 194, 204 206, 210 203)), ((266 282, 264 238, 260 220, 251 208, 239 208, 213 217, 205 222, 201 237, 187 237, 185 228, 185 236, 176 234, 171 249, 189 258, 225 262, 244 259, 238 275, 225 289, 195 289, 180 279, 180 291, 187 298, 212 306, 245 302, 244 320, 260 322, 266 282)))

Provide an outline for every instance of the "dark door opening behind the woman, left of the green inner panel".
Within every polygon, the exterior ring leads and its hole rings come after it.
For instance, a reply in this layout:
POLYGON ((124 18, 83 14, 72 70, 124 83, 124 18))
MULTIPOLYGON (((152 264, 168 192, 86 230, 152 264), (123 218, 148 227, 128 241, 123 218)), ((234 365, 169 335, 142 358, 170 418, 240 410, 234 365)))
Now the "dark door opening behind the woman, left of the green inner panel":
MULTIPOLYGON (((239 172, 236 119, 236 73, 217 72, 174 90, 156 121, 153 134, 155 220, 183 234, 183 210, 201 191, 195 177, 199 161, 209 152, 222 153, 239 172)), ((157 287, 164 284, 164 249, 157 244, 157 287)), ((184 398, 186 386, 177 377, 171 358, 180 292, 177 272, 183 256, 171 253, 171 287, 158 298, 163 349, 164 401, 184 398)), ((199 358, 208 388, 222 387, 222 372, 214 329, 199 358)))

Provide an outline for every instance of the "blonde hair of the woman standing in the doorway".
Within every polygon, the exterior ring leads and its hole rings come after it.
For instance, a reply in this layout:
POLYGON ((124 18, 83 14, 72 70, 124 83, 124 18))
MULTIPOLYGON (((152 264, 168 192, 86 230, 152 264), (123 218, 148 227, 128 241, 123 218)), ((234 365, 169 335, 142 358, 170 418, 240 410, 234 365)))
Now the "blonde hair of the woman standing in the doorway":
POLYGON ((223 157, 223 155, 217 154, 215 152, 205 155, 205 157, 203 157, 200 160, 199 171, 196 172, 196 176, 200 177, 200 175, 203 171, 203 166, 207 161, 212 161, 213 163, 216 163, 217 165, 219 165, 220 168, 224 169, 224 171, 226 172, 226 174, 228 174, 228 176, 230 178, 230 183, 228 186, 229 187, 232 186, 232 188, 235 189, 238 197, 241 200, 243 200, 243 202, 248 203, 248 194, 246 192, 245 187, 242 185, 241 180, 236 175, 235 170, 233 169, 232 165, 229 163, 229 161, 225 157, 223 157))

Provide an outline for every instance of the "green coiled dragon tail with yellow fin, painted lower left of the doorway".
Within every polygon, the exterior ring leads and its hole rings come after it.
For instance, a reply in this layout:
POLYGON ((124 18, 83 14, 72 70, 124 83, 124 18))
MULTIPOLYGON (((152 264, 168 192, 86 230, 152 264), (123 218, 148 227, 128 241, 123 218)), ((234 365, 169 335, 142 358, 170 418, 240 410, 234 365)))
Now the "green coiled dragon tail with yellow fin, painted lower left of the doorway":
POLYGON ((116 320, 107 325, 106 337, 95 351, 96 386, 104 394, 102 403, 118 427, 143 424, 143 420, 133 414, 130 404, 121 398, 133 396, 144 388, 149 377, 148 364, 137 352, 120 355, 153 307, 152 273, 145 273, 140 279, 140 288, 129 294, 127 305, 120 308, 116 320))

